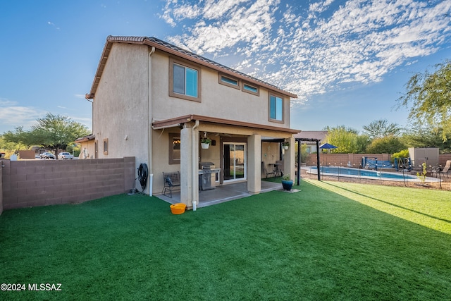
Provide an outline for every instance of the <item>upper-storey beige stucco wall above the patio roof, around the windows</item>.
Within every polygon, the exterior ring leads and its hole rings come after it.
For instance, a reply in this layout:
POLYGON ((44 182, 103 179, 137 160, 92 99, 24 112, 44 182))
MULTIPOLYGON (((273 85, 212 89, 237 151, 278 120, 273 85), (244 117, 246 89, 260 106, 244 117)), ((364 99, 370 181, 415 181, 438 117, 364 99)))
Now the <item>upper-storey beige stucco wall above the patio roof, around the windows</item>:
POLYGON ((268 121, 268 90, 260 88, 260 95, 249 94, 241 90, 218 83, 218 72, 202 68, 202 102, 193 102, 168 94, 169 57, 156 51, 152 68, 158 70, 152 77, 153 118, 157 121, 167 118, 197 114, 233 121, 245 121, 290 128, 290 99, 284 99, 284 121, 268 121))

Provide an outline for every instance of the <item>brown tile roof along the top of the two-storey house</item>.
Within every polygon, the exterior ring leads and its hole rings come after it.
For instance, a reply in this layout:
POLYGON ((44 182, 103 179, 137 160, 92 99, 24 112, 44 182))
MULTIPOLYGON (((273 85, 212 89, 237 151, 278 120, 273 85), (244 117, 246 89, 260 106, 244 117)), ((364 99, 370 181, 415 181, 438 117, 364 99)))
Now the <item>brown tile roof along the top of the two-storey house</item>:
POLYGON ((219 70, 223 73, 227 73, 229 75, 235 75, 237 78, 241 78, 243 80, 247 80, 249 82, 260 85, 261 87, 266 87, 270 90, 280 92, 281 94, 287 95, 291 98, 297 98, 296 94, 292 94, 290 92, 284 91, 284 90, 280 89, 280 87, 277 87, 276 85, 272 85, 268 82, 264 82, 263 80, 259 80, 258 78, 254 78, 250 75, 247 75, 240 71, 237 71, 237 70, 234 70, 227 66, 224 66, 221 63, 211 61, 210 59, 206 59, 204 56, 199 56, 198 54, 194 54, 191 51, 187 51, 183 48, 177 47, 177 46, 170 44, 168 42, 165 42, 161 39, 157 39, 156 37, 125 37, 125 36, 111 36, 110 35, 106 38, 106 44, 104 47, 104 51, 102 52, 102 55, 101 55, 101 60, 99 62, 99 66, 97 67, 96 75, 94 76, 94 81, 92 82, 91 91, 89 92, 89 94, 86 94, 87 99, 92 99, 94 97, 95 91, 97 90, 97 86, 99 85, 101 73, 104 70, 104 67, 106 65, 106 60, 108 59, 109 52, 111 51, 111 47, 114 42, 128 43, 128 44, 147 44, 148 46, 155 47, 156 49, 159 49, 161 51, 166 51, 166 52, 174 54, 176 56, 181 56, 185 59, 194 61, 195 63, 200 63, 201 65, 219 70))

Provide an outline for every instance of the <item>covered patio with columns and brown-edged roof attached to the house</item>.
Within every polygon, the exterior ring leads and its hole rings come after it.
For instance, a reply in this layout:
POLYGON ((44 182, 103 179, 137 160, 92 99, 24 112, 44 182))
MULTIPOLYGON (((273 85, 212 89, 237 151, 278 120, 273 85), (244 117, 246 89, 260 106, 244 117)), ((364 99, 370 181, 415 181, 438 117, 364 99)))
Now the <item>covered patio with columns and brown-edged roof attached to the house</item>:
MULTIPOLYGON (((284 174, 289 174, 292 178, 295 176, 293 135, 298 130, 194 114, 154 121, 152 128, 153 145, 168 145, 169 151, 152 153, 153 173, 180 173, 180 193, 177 196, 173 194, 172 199, 164 200, 181 202, 188 209, 194 208, 194 204, 199 208, 265 192, 266 186, 271 184, 261 182, 263 164, 277 164, 284 174), (207 147, 201 147, 202 139, 207 138, 207 147), (277 148, 271 147, 273 142, 277 148), (284 148, 283 160, 278 162, 281 159, 279 149, 282 143, 287 144, 287 149, 284 148), (169 164, 166 164, 167 157, 173 160, 169 164), (199 188, 199 183, 204 183, 199 182, 199 174, 208 176, 213 173, 205 172, 209 168, 204 166, 209 166, 217 174, 216 190, 212 192, 208 188, 199 188), (222 187, 219 188, 220 186, 222 187), (174 200, 175 197, 177 200, 174 200)), ((154 190, 162 191, 164 183, 157 180, 154 190)), ((274 189, 277 188, 270 190, 274 189)))

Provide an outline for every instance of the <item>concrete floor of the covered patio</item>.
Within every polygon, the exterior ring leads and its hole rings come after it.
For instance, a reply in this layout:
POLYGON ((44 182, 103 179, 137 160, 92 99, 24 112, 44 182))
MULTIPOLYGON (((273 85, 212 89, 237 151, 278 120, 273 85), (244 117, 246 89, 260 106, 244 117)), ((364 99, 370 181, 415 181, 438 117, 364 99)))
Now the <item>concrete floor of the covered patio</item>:
MULTIPOLYGON (((283 190, 282 184, 261 181, 260 193, 272 190, 283 190)), ((252 194, 247 192, 247 182, 218 185, 215 189, 199 190, 199 204, 197 204, 197 208, 228 202, 233 199, 241 199, 250 195, 252 194)), ((174 191, 172 198, 166 195, 156 195, 156 197, 170 204, 180 203, 180 191, 174 191)))

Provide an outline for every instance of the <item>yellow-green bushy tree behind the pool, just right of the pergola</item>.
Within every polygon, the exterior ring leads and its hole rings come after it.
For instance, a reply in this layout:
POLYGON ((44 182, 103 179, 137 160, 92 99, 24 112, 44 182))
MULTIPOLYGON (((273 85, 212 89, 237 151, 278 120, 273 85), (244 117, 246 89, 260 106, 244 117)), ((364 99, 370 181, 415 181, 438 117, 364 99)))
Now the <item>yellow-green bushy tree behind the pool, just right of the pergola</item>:
POLYGON ((335 128, 326 127, 325 130, 328 131, 326 141, 338 147, 331 152, 359 154, 365 152, 366 145, 369 143, 369 137, 367 135, 359 135, 357 130, 346 128, 345 125, 340 125, 335 128))

